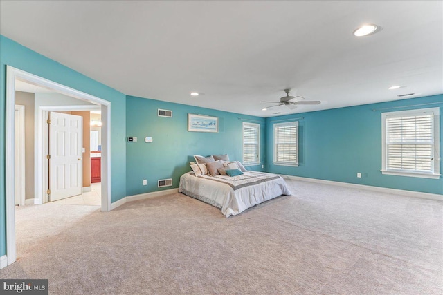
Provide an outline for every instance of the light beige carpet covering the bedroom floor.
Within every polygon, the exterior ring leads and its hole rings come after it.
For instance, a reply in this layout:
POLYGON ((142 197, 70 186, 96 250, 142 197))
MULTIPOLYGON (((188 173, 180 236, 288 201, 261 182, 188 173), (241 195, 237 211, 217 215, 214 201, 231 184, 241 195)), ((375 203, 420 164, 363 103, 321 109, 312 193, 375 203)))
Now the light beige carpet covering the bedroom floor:
POLYGON ((442 202, 287 182, 293 196, 230 218, 179 193, 18 209, 0 278, 48 278, 50 294, 443 294, 442 202))

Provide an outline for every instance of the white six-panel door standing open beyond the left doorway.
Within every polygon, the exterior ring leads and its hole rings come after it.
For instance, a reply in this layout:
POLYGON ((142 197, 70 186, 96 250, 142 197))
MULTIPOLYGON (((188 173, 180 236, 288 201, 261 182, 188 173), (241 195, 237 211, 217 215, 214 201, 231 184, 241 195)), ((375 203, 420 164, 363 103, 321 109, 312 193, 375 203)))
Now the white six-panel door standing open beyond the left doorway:
POLYGON ((82 117, 49 113, 49 202, 82 193, 82 117))

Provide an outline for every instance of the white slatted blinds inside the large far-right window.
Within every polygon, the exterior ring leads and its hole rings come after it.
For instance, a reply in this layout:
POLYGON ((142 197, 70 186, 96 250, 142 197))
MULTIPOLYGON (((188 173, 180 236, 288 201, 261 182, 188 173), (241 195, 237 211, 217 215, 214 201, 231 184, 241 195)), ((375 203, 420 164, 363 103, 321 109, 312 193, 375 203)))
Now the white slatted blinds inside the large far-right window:
POLYGON ((386 170, 433 173, 434 113, 386 116, 386 170))

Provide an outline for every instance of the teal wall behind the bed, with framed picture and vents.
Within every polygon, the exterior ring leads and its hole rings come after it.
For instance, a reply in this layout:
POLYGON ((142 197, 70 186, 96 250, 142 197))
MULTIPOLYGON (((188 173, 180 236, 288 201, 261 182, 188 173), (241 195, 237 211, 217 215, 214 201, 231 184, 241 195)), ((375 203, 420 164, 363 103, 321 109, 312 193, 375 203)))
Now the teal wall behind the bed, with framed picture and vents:
MULTIPOLYGON (((179 187, 192 155, 227 153, 230 160, 242 161, 243 121, 260 123, 260 160, 266 162, 264 118, 132 96, 126 98, 126 111, 126 134, 138 138, 126 143, 127 196, 179 187), (172 118, 158 117, 158 108, 172 111, 172 118), (188 132, 188 113, 218 117, 219 133, 188 132), (153 142, 145 143, 145 137, 153 142), (173 185, 159 189, 157 180, 164 178, 172 178, 173 185)), ((262 171, 260 165, 247 169, 262 171)))

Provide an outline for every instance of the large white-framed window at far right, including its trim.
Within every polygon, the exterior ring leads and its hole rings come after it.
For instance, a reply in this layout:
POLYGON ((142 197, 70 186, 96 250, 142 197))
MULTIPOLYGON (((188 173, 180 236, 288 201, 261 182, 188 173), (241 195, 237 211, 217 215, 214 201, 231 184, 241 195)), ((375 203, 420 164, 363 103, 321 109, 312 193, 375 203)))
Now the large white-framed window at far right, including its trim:
POLYGON ((440 178, 440 108, 381 113, 381 172, 440 178))

